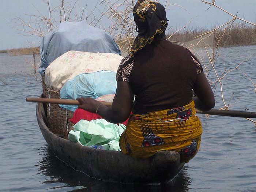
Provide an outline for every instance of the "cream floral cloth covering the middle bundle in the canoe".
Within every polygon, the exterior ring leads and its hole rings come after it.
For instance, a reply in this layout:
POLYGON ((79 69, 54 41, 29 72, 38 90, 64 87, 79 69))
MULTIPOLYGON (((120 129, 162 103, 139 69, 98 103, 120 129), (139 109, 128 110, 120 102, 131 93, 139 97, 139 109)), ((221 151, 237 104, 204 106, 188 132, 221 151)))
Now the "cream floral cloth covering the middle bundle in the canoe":
POLYGON ((60 91, 67 80, 96 71, 117 71, 122 56, 114 53, 69 51, 55 59, 45 70, 45 84, 60 91))

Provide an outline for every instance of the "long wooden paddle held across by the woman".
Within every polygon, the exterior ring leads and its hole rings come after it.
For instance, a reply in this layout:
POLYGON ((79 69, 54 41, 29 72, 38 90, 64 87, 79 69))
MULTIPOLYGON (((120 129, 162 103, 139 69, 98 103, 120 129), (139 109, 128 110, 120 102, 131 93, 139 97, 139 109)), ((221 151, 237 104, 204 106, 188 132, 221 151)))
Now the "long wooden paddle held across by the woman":
MULTIPOLYGON (((79 102, 73 99, 49 99, 49 98, 27 97, 26 101, 39 102, 39 103, 64 104, 64 105, 79 105, 79 102)), ((112 105, 111 102, 101 102, 101 103, 106 106, 112 105)), ((211 109, 209 111, 200 111, 196 109, 196 113, 228 116, 228 117, 256 118, 255 112, 246 112, 246 111, 231 111, 231 110, 219 110, 219 109, 211 109)))

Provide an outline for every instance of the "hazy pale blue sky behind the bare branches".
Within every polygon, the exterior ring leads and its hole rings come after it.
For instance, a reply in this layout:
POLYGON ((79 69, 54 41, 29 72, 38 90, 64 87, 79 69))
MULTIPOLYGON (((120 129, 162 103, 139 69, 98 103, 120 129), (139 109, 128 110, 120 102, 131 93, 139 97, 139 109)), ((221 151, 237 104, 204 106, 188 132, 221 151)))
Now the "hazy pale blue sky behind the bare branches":
MULTIPOLYGON (((0 50, 27 47, 31 45, 29 42, 40 41, 40 39, 34 39, 31 36, 25 37, 20 35, 19 31, 15 30, 15 23, 11 22, 11 20, 14 18, 22 18, 28 22, 30 15, 39 15, 39 12, 42 15, 48 16, 48 6, 44 1, 45 0, 0 0, 0 50)), ((77 9, 82 10, 82 8, 86 6, 86 3, 87 9, 93 8, 97 1, 98 0, 79 0, 77 9)), ((211 0, 208 0, 208 2, 210 1, 211 0)), ((51 2, 56 4, 59 3, 60 0, 51 0, 51 2)), ((164 0, 159 0, 159 2, 162 3, 164 0)), ((213 26, 222 25, 232 19, 230 15, 214 6, 209 8, 209 5, 203 3, 201 0, 169 0, 169 3, 171 5, 166 10, 167 19, 169 20, 169 26, 174 30, 185 26, 190 21, 188 26, 190 29, 203 27, 209 29, 213 26)), ((255 23, 256 0, 215 0, 215 4, 234 15, 237 14, 237 16, 242 19, 255 23)), ((95 15, 97 15, 97 13, 95 15)), ((104 21, 106 20, 101 20, 101 27, 109 25, 108 22, 104 21)), ((106 26, 106 28, 107 27, 108 26, 106 26)), ((20 27, 19 29, 22 30, 20 27)))

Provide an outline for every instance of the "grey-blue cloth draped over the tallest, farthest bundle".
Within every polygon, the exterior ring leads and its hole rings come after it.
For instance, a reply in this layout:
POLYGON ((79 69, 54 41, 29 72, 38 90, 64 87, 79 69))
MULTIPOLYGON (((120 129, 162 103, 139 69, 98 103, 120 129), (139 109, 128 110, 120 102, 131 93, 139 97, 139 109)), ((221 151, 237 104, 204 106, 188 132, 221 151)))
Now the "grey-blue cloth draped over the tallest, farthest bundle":
POLYGON ((84 21, 62 22, 42 39, 41 66, 38 72, 44 75, 46 67, 53 60, 70 50, 121 55, 113 37, 104 30, 90 26, 84 21))

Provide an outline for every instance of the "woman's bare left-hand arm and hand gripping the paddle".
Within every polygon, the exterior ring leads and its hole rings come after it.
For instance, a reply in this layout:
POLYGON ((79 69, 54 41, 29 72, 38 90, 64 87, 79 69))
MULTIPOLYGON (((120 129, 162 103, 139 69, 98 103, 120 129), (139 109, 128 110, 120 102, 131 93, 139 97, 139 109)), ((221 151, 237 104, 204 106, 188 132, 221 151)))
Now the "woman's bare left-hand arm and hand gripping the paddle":
POLYGON ((116 94, 112 106, 101 105, 92 98, 77 98, 78 108, 99 114, 110 123, 121 123, 127 120, 131 113, 134 94, 128 82, 117 81, 116 94), (99 106, 101 105, 101 106, 99 106))

